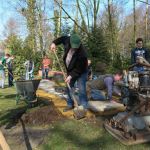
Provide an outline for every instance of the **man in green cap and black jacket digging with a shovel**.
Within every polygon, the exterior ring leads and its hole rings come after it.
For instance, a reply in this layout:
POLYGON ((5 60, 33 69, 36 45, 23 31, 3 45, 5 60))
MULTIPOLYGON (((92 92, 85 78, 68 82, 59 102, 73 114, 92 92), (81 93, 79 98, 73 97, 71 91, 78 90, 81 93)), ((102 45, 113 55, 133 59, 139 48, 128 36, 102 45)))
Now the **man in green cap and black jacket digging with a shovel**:
MULTIPOLYGON (((56 45, 60 44, 64 45, 65 50, 63 56, 63 61, 67 71, 67 78, 65 79, 65 82, 70 84, 70 87, 73 88, 77 81, 80 105, 87 108, 86 81, 88 65, 86 49, 82 45, 81 39, 77 34, 57 38, 51 44, 51 50, 55 51, 56 45)), ((68 89, 67 107, 64 109, 64 112, 73 108, 74 102, 68 89)))

